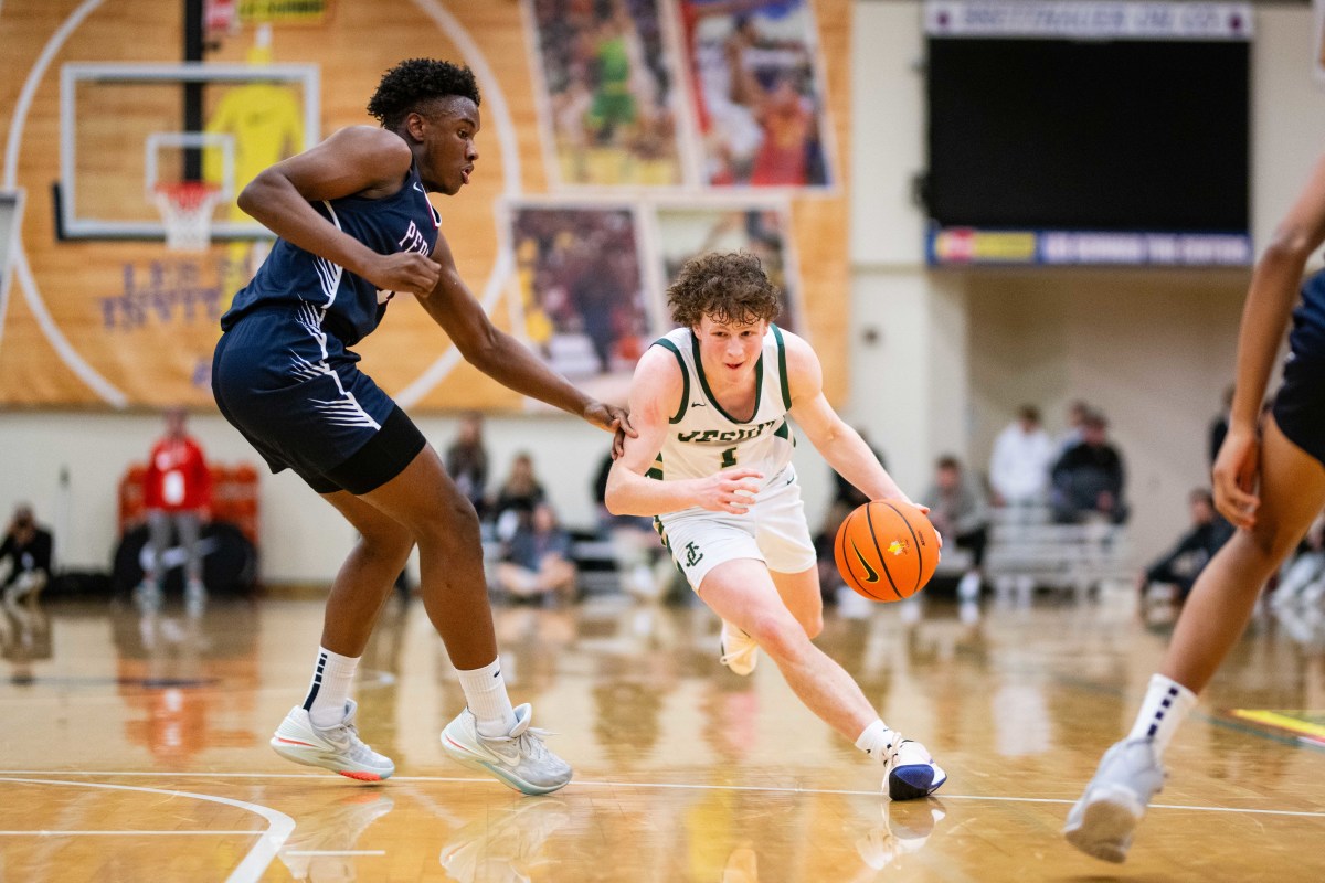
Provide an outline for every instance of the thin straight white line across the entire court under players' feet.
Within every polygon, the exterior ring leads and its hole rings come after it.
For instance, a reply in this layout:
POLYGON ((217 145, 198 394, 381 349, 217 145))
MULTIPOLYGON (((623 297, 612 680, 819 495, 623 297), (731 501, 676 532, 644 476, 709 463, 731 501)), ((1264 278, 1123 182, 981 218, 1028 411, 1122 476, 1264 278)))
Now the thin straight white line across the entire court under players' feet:
MULTIPOLYGON (((0 769, 0 781, 24 781, 19 778, 11 778, 13 770, 0 769)), ((20 774, 33 774, 33 776, 143 776, 143 777, 164 777, 170 776, 174 778, 184 778, 188 776, 199 778, 299 778, 306 781, 321 781, 334 785, 343 785, 338 778, 330 776, 318 776, 315 773, 184 773, 184 772, 131 772, 131 770, 97 770, 97 772, 78 772, 78 770, 20 770, 20 774)), ((33 780, 36 781, 36 780, 33 780)), ((392 776, 394 782, 454 782, 454 784, 498 784, 492 778, 468 778, 462 776, 392 776)), ((78 782, 60 782, 68 785, 76 785, 78 782)), ((102 785, 103 788, 126 788, 123 785, 102 785)), ((653 788, 653 789, 676 789, 676 790, 710 790, 710 792, 754 792, 754 793, 775 793, 775 794, 841 794, 845 797, 882 797, 881 792, 876 790, 852 790, 840 788, 798 788, 786 785, 705 785, 693 782, 623 782, 612 780, 576 780, 572 781, 567 788, 653 788)), ((136 790, 155 790, 155 789, 136 789, 136 790)), ((187 792, 170 792, 187 794, 187 792)), ((942 801, 994 801, 1004 804, 1061 804, 1072 805, 1076 802, 1075 798, 1067 797, 1014 797, 1007 794, 943 794, 935 793, 934 798, 942 801)), ((205 800, 205 798, 204 798, 205 800)), ((216 798, 225 802, 225 798, 216 798)), ((1150 809, 1179 809, 1199 813, 1244 813, 1248 815, 1283 815, 1289 818, 1325 818, 1325 810, 1295 810, 1295 809, 1256 809, 1256 808, 1240 808, 1240 806, 1196 806, 1191 804, 1150 804, 1150 809)), ((272 810, 277 812, 277 810, 272 810)), ((289 817, 286 817, 289 818, 289 817)), ((292 822, 293 823, 293 822, 292 822)))

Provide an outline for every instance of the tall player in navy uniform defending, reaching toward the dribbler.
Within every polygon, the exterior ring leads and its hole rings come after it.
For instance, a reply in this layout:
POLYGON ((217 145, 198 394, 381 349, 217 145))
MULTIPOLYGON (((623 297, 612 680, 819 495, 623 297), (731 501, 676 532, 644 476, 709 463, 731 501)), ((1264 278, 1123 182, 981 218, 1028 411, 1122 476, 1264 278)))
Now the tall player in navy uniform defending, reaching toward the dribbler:
POLYGON ((478 102, 468 68, 403 61, 368 102, 380 128, 341 130, 244 188, 240 208, 280 238, 221 316, 212 389, 273 471, 294 470, 362 537, 331 585, 307 696, 272 747, 351 778, 395 772, 358 736, 350 680, 417 543, 424 608, 466 700, 443 748, 542 794, 566 785, 571 769, 530 728, 530 707, 513 708, 506 694, 474 508, 350 349, 394 295, 412 294, 484 373, 602 429, 629 432, 624 410, 591 400, 494 328, 460 279, 427 193, 452 196, 469 181, 478 102))

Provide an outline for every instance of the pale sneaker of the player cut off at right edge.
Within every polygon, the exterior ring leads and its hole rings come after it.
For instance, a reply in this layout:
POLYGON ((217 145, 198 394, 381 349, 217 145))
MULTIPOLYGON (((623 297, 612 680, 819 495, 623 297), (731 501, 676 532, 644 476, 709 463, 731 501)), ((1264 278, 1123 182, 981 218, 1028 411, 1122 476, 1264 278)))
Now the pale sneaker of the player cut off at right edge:
POLYGON ((1163 788, 1163 767, 1149 739, 1114 743, 1068 813, 1063 835, 1086 855, 1122 862, 1132 846, 1132 833, 1150 798, 1163 788))

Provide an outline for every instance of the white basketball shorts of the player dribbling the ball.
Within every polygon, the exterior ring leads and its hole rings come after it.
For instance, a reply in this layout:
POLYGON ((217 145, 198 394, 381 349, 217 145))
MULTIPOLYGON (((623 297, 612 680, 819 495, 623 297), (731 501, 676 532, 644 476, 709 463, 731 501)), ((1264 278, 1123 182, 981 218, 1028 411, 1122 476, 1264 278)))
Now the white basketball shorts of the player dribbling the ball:
POLYGON ((657 519, 662 543, 696 592, 709 571, 726 561, 755 559, 776 573, 815 567, 796 470, 787 466, 741 515, 692 507, 657 519))

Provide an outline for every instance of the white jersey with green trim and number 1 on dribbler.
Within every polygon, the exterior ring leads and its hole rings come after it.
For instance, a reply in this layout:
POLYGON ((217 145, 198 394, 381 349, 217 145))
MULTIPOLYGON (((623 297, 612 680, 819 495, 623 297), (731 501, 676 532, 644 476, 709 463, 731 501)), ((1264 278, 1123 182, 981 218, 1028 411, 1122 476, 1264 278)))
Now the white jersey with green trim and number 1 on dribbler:
POLYGON ((700 342, 689 328, 676 328, 653 343, 672 351, 681 365, 681 402, 669 418, 662 450, 649 478, 705 478, 718 470, 745 466, 763 473, 770 485, 791 463, 795 436, 787 424, 791 391, 782 331, 768 326, 763 355, 755 364, 754 417, 735 420, 709 389, 700 361, 700 342))

